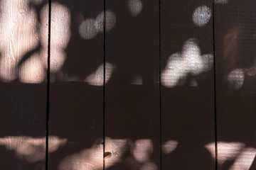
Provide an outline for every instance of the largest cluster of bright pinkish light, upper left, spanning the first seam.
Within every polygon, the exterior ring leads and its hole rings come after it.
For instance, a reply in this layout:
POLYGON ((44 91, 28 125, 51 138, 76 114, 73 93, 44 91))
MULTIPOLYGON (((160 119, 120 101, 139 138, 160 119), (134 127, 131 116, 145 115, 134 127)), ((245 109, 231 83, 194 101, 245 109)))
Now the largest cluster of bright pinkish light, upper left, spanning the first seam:
MULTIPOLYGON (((19 79, 23 83, 38 84, 46 79, 48 68, 48 4, 41 9, 41 23, 29 1, 1 1, 1 59, 0 79, 10 82, 19 79), (19 23, 18 26, 16 23, 19 23), (39 27, 39 30, 37 29, 39 27), (23 57, 35 50, 37 52, 23 57), (21 64, 20 64, 21 63, 21 64)), ((33 1, 41 4, 41 1, 33 1)), ((70 12, 58 3, 51 4, 50 72, 58 72, 65 62, 65 47, 70 40, 70 12)))

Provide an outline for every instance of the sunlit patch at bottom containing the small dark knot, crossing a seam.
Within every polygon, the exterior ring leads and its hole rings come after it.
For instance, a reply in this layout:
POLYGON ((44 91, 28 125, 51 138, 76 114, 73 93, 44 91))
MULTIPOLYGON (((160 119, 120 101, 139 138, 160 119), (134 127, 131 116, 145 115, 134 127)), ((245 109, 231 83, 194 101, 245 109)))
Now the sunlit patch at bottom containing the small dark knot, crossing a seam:
MULTIPOLYGON (((101 141, 101 140, 97 140, 101 141)), ((103 145, 95 142, 92 147, 83 149, 82 151, 70 154, 65 157, 59 164, 59 170, 80 170, 103 168, 105 160, 105 169, 114 166, 121 161, 123 154, 130 146, 129 140, 117 140, 110 137, 105 138, 105 153, 103 154, 103 145)))

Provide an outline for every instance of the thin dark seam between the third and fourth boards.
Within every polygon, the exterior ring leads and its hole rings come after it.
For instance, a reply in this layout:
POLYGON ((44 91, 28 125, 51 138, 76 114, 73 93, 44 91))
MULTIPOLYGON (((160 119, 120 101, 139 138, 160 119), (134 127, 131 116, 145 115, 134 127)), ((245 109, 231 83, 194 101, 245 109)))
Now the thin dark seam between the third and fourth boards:
POLYGON ((159 0, 159 112, 160 112, 160 169, 162 169, 162 127, 161 127, 161 0, 159 0))

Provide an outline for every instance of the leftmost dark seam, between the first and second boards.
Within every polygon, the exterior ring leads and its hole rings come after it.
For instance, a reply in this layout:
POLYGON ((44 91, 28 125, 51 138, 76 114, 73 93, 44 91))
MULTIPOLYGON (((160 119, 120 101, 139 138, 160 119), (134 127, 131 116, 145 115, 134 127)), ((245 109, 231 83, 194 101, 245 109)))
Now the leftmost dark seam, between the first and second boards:
POLYGON ((47 61, 47 94, 46 94, 46 170, 48 170, 48 136, 49 136, 49 99, 50 99, 50 11, 51 0, 48 10, 48 61, 47 61))

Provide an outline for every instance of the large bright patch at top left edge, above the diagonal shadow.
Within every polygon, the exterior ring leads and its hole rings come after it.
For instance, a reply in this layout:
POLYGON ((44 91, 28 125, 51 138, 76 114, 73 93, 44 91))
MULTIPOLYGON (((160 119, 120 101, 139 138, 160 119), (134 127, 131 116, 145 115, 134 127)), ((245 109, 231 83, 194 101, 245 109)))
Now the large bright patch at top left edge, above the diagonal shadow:
POLYGON ((27 0, 4 0, 0 6, 0 79, 10 82, 18 78, 22 57, 39 43, 36 11, 28 7, 27 0))

